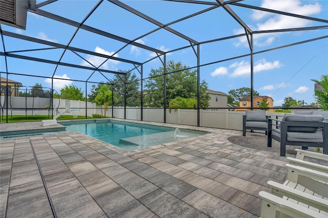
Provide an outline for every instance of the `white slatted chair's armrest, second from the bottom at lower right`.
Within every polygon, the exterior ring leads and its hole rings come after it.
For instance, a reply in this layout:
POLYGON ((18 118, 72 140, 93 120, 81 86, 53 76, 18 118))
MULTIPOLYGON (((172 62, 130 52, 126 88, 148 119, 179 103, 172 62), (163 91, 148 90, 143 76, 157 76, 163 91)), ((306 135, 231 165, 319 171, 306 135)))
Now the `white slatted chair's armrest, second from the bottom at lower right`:
POLYGON ((315 195, 304 193, 294 188, 282 185, 274 181, 268 181, 271 193, 282 198, 282 196, 302 202, 319 210, 328 212, 328 200, 316 197, 315 195))

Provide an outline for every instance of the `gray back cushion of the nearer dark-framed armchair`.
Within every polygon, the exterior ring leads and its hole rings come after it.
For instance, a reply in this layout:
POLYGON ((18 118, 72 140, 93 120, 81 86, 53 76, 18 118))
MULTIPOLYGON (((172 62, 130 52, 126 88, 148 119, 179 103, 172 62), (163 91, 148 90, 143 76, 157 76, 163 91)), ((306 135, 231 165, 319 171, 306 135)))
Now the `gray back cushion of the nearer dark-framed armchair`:
MULTIPOLYGON (((322 115, 302 115, 302 114, 284 114, 283 121, 295 121, 295 122, 322 122, 322 115)), ((279 124, 279 128, 280 128, 279 124)), ((315 133, 318 127, 306 127, 306 126, 289 126, 288 132, 302 132, 302 133, 315 133)))

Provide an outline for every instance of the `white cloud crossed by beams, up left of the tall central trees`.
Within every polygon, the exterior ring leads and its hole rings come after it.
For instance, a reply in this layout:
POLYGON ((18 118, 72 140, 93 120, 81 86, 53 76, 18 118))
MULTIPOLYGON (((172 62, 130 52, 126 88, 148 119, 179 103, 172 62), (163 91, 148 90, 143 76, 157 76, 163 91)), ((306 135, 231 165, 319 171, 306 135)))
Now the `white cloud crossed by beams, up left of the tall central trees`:
MULTIPOLYGON (((114 54, 114 52, 109 52, 106 51, 104 49, 101 49, 100 47, 96 47, 94 49, 94 52, 99 53, 99 54, 105 54, 105 55, 109 55, 111 56, 112 54, 114 54)), ((115 54, 114 57, 118 57, 118 54, 115 54)), ((98 56, 94 56, 94 55, 87 55, 86 58, 90 63, 92 63, 95 67, 99 67, 99 65, 101 63, 103 63, 107 58, 104 57, 98 57, 98 56)), ((116 65, 119 61, 117 60, 112 60, 112 59, 108 59, 103 65, 101 65, 101 68, 108 70, 109 69, 109 63, 112 64, 111 67, 113 67, 113 65, 116 65)), ((87 61, 83 60, 83 62, 81 63, 83 66, 86 67, 92 67, 91 64, 89 64, 87 61)))

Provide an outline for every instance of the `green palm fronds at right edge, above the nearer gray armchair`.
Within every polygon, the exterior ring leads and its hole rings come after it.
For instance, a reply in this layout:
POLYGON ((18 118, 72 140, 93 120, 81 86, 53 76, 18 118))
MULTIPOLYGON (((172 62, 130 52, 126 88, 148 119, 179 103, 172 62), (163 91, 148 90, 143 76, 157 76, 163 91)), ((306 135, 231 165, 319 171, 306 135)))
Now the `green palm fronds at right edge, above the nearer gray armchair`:
POLYGON ((321 110, 328 111, 328 75, 322 75, 320 79, 320 81, 317 79, 311 79, 322 87, 322 90, 314 90, 314 95, 321 107, 321 110))

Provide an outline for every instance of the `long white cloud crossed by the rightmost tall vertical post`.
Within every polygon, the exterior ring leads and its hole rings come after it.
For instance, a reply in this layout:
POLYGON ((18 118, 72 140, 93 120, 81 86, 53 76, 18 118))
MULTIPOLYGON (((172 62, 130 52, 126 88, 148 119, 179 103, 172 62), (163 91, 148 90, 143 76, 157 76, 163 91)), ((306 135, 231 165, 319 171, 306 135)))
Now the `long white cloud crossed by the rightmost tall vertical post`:
MULTIPOLYGON (((253 71, 254 73, 258 73, 261 71, 273 70, 276 68, 280 68, 282 64, 280 61, 275 60, 273 62, 268 62, 264 58, 254 63, 253 71)), ((238 77, 238 76, 249 76, 251 75, 251 64, 248 61, 240 61, 234 62, 229 66, 229 68, 234 68, 230 77, 238 77)))

